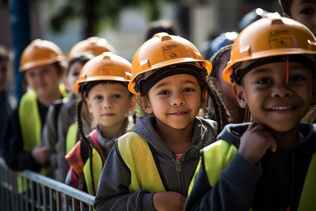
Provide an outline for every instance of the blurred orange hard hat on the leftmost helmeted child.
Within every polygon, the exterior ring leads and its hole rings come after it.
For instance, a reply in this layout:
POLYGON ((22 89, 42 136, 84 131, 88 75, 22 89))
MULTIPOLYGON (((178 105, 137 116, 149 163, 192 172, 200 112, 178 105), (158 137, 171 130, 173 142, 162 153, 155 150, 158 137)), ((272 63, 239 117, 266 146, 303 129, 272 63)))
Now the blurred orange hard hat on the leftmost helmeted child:
POLYGON ((20 72, 31 68, 60 62, 66 68, 66 58, 62 50, 48 40, 35 39, 23 51, 20 60, 20 72))

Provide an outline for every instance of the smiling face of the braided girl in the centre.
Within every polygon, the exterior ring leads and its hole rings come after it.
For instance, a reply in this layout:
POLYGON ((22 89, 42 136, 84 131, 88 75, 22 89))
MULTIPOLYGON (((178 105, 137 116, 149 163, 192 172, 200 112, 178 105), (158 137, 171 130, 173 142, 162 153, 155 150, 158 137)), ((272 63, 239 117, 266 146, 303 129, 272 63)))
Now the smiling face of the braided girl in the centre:
POLYGON ((180 74, 169 76, 153 85, 148 91, 148 104, 142 108, 153 114, 157 124, 174 129, 190 125, 204 106, 201 88, 194 76, 180 74))

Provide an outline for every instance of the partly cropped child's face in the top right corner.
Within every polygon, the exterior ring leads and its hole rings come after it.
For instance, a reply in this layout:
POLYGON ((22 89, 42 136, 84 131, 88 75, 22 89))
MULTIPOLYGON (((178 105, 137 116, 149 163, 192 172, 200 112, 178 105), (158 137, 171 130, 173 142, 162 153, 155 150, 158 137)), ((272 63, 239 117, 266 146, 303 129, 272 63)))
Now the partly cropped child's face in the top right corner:
POLYGON ((316 0, 293 0, 291 16, 284 15, 304 24, 316 36, 316 0))

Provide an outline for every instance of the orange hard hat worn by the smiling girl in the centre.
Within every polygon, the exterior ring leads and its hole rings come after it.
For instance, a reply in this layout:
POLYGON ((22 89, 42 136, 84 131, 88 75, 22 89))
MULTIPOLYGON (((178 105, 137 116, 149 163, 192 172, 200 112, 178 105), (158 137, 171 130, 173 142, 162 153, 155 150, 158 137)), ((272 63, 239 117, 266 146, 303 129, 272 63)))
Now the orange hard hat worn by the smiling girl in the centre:
POLYGON ((132 61, 132 76, 128 89, 134 94, 141 94, 140 76, 148 77, 157 69, 176 65, 193 64, 206 70, 207 77, 212 70, 212 63, 203 60, 198 49, 188 40, 162 32, 144 42, 135 52, 132 61))

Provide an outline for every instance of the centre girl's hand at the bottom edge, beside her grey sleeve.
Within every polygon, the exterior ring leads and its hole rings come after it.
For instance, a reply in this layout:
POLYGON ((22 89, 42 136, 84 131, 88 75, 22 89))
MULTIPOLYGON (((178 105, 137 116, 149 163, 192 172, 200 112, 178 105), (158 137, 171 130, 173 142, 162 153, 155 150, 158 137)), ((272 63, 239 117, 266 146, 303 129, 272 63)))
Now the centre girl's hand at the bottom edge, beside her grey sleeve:
POLYGON ((167 191, 154 193, 152 196, 153 207, 158 211, 183 210, 185 197, 180 193, 167 191))

